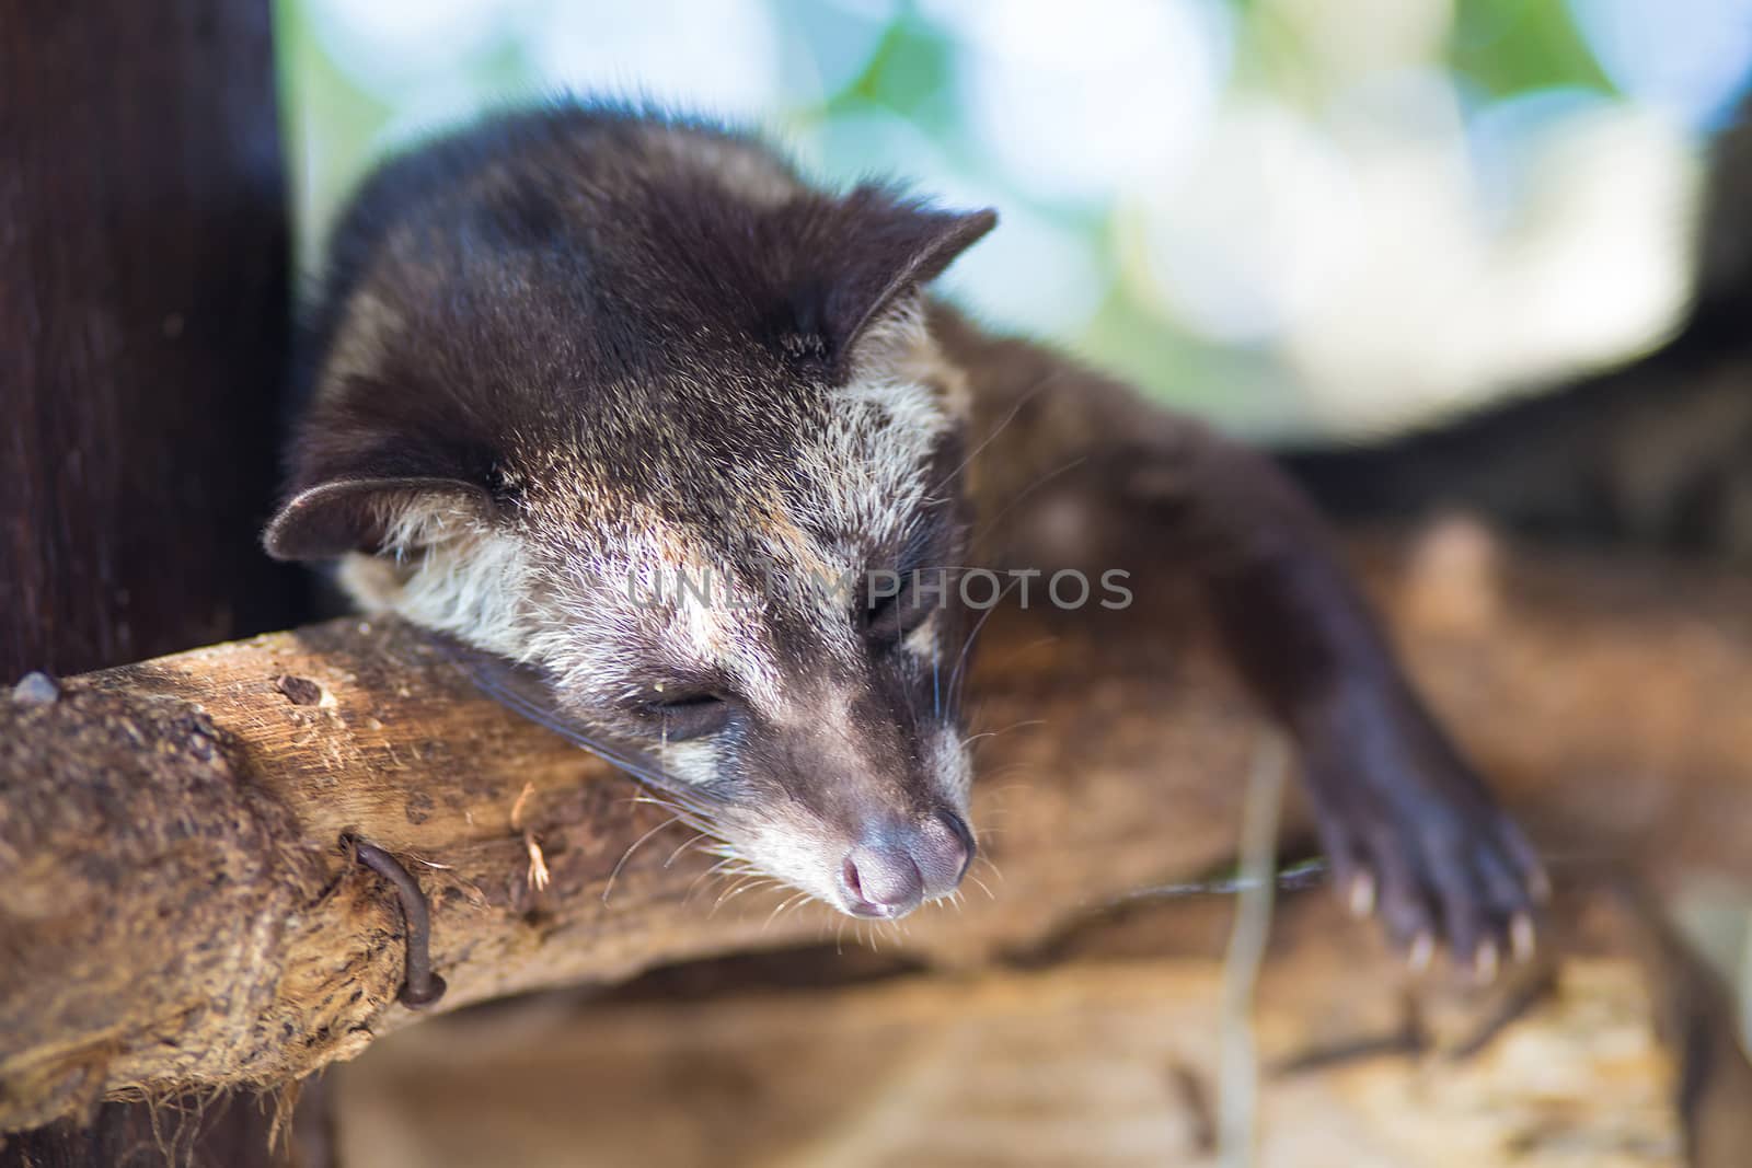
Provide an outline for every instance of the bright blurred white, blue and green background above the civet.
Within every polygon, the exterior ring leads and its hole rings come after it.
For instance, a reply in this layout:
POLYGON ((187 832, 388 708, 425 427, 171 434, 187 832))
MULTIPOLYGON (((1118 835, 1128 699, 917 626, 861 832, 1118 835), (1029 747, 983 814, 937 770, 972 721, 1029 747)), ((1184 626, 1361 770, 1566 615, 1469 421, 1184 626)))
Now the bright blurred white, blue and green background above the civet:
POLYGON ((307 270, 385 151, 494 105, 639 91, 752 117, 839 182, 999 207, 953 296, 1228 426, 1300 433, 1414 422, 1673 326, 1692 159, 1743 84, 1752 7, 1645 7, 279 0, 277 19, 307 270), (1694 70, 1706 91, 1666 68, 1642 93, 1610 37, 1722 61, 1694 70))

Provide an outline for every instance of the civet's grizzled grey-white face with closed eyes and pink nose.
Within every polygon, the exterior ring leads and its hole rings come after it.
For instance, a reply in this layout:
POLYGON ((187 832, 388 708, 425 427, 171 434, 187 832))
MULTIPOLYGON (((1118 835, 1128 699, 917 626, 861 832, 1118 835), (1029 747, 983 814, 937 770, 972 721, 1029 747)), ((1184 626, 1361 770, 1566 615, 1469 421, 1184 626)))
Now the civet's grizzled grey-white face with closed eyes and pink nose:
POLYGON ((426 513, 399 562, 356 555, 345 576, 534 667, 557 716, 759 869, 902 916, 974 851, 964 454, 923 355, 837 387, 676 392, 685 426, 597 413, 589 440, 513 462, 492 518, 426 513))

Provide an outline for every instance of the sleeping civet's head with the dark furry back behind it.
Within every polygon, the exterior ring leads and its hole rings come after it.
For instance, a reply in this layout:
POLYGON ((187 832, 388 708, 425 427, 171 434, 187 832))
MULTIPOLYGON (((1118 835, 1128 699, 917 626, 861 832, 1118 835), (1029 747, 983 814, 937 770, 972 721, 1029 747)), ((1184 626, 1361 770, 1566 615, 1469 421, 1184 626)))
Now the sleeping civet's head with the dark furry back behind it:
POLYGON ((757 867, 909 912, 974 851, 920 289, 993 222, 624 112, 424 147, 335 238, 266 546, 527 667, 757 867))

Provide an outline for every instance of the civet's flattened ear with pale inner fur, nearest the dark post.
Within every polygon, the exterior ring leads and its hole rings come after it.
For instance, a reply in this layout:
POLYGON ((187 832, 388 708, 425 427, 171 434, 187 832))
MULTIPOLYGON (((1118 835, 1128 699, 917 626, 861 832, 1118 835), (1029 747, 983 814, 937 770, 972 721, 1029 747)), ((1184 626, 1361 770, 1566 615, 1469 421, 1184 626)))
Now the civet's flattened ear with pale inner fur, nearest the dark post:
POLYGON ((459 478, 335 478, 300 490, 261 536, 277 560, 429 546, 492 518, 492 497, 459 478))

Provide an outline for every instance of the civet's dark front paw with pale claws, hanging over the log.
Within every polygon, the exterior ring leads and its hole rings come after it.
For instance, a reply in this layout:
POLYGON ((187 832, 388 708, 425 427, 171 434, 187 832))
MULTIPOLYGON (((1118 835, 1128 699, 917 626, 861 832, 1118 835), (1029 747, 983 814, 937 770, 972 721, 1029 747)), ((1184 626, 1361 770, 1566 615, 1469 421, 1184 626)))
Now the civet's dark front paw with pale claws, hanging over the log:
POLYGON ((1335 723, 1303 748, 1333 886, 1414 970, 1438 944, 1480 981, 1533 954, 1538 858, 1421 711, 1335 723))

